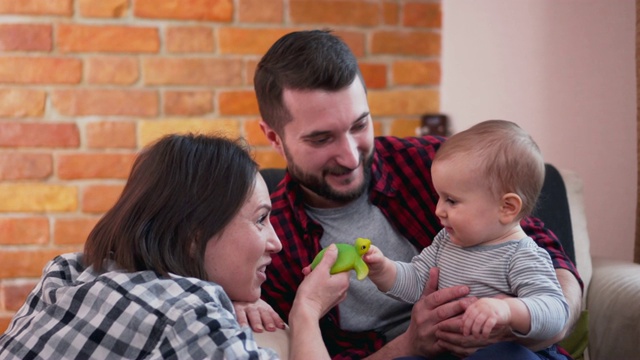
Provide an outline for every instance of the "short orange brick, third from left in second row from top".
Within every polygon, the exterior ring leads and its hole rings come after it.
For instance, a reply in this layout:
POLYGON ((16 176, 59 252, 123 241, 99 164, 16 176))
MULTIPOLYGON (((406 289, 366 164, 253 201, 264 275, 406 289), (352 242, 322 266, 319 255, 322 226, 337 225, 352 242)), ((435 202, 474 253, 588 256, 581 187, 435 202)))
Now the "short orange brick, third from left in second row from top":
POLYGON ((167 29, 167 51, 208 53, 214 51, 213 29, 204 26, 174 26, 167 29))

